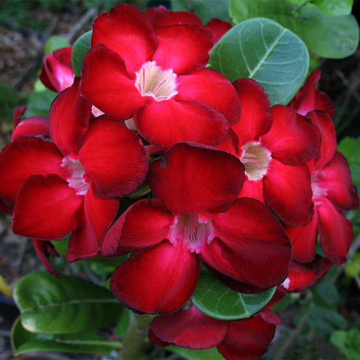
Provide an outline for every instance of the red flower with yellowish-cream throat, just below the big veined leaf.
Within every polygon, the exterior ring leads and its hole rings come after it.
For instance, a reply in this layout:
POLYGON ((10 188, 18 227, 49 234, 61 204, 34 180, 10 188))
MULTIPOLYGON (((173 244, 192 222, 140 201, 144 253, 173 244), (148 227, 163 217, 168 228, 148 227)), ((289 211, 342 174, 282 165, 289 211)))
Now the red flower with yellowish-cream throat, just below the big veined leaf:
POLYGON ((305 165, 320 146, 320 134, 307 118, 288 106, 270 107, 254 80, 235 82, 240 121, 231 125, 229 140, 219 146, 236 154, 245 166, 240 196, 255 197, 286 224, 308 224, 313 215, 310 173, 305 165))

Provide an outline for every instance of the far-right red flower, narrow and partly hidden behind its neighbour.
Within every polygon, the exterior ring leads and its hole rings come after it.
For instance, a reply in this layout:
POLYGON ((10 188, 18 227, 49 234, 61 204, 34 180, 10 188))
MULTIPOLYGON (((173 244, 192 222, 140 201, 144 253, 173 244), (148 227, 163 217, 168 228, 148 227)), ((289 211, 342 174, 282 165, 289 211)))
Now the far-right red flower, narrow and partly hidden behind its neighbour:
POLYGON ((317 235, 326 257, 335 264, 346 261, 353 229, 343 211, 356 209, 359 200, 352 184, 346 158, 336 151, 334 124, 328 113, 307 114, 321 132, 321 147, 316 158, 308 161, 311 173, 313 218, 307 226, 289 226, 285 230, 294 246, 294 258, 310 262, 315 258, 317 235))

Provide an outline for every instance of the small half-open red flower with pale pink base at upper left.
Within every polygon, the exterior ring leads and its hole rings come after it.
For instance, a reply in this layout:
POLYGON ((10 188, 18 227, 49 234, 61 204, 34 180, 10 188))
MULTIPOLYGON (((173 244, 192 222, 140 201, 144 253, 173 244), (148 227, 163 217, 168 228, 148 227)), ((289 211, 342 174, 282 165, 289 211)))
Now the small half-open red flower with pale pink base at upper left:
POLYGON ((72 50, 72 46, 64 47, 44 56, 40 80, 50 90, 60 93, 73 84, 72 50))

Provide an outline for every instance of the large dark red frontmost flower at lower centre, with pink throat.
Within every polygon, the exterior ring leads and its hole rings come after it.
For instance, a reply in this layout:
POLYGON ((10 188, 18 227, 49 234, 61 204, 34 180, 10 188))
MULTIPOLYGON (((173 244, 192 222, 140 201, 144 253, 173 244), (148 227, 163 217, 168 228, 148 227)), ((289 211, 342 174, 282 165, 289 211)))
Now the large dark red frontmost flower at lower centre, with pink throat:
POLYGON ((280 284, 291 244, 266 206, 236 199, 243 181, 239 159, 214 148, 178 143, 154 160, 157 199, 132 205, 102 244, 101 255, 136 251, 113 274, 114 295, 135 311, 174 312, 195 290, 199 259, 245 286, 280 284))

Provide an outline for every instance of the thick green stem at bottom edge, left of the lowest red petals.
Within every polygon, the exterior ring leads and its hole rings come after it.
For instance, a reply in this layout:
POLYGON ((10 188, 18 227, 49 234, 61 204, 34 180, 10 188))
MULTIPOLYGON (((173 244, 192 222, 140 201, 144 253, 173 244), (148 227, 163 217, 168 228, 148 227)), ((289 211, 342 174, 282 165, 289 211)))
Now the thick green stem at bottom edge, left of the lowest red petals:
POLYGON ((149 314, 130 313, 130 325, 123 341, 125 350, 120 352, 120 359, 139 358, 141 346, 147 337, 152 318, 153 316, 149 314))

